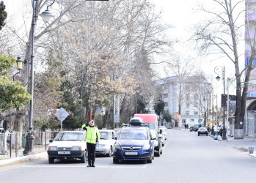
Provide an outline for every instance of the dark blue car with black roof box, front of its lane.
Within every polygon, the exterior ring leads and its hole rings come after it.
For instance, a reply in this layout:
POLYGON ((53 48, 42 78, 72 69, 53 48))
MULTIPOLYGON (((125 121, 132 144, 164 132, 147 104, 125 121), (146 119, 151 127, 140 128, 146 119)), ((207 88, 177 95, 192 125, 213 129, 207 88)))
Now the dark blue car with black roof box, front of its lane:
POLYGON ((148 127, 122 127, 114 145, 113 163, 120 160, 147 160, 147 163, 152 163, 153 140, 148 127))

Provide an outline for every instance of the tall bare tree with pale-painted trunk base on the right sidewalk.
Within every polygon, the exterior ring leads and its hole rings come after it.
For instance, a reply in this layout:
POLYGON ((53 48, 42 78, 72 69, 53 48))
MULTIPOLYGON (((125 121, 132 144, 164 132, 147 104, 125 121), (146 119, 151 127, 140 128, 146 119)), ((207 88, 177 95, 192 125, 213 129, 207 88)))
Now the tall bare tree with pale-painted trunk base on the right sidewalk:
MULTIPOLYGON (((238 24, 240 15, 244 12, 244 1, 236 0, 212 0, 219 10, 207 10, 200 6, 200 10, 208 13, 210 18, 196 26, 194 40, 200 45, 201 51, 208 53, 221 53, 233 63, 236 79, 236 108, 235 108, 235 139, 244 138, 244 116, 246 111, 246 96, 248 82, 252 72, 252 62, 256 56, 255 37, 251 39, 252 54, 249 64, 241 68, 238 53, 238 42, 243 25, 238 24), (241 78, 246 70, 244 86, 241 87, 241 78)), ((242 57, 244 61, 244 57, 242 57)))

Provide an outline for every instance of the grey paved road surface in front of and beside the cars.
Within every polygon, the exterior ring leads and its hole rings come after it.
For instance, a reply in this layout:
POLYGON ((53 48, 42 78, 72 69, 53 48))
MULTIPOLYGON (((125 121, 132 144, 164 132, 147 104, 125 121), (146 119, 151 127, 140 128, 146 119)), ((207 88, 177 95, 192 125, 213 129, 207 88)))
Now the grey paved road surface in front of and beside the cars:
POLYGON ((164 152, 152 164, 97 157, 96 166, 43 159, 2 167, 0 182, 256 182, 255 157, 189 130, 168 130, 164 152))

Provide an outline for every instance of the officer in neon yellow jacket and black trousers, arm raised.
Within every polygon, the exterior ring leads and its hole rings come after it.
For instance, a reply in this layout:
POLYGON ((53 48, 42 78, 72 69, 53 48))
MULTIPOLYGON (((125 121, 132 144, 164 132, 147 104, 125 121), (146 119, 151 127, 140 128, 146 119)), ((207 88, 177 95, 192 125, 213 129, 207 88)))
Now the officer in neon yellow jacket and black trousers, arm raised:
POLYGON ((88 152, 88 165, 87 167, 95 167, 95 149, 100 141, 100 132, 98 127, 94 126, 94 121, 91 120, 87 124, 83 124, 81 127, 87 131, 86 142, 88 152))

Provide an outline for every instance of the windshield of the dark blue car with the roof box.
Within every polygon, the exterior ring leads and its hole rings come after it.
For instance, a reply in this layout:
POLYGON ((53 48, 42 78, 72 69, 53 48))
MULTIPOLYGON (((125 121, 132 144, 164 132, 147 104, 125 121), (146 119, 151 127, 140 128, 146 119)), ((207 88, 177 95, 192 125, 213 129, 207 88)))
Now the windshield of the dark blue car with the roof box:
POLYGON ((147 140, 146 129, 122 129, 120 132, 119 139, 138 139, 147 140))

